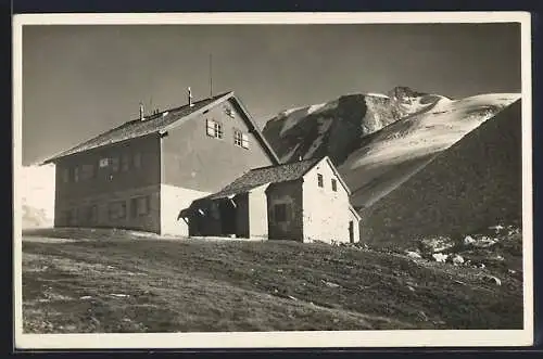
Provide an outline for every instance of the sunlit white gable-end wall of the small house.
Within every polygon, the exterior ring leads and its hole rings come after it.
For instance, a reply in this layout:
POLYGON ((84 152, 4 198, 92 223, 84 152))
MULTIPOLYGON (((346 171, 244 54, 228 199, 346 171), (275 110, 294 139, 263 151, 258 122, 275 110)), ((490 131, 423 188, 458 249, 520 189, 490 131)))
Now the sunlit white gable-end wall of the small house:
MULTIPOLYGON (((349 221, 353 220, 349 194, 326 158, 304 176, 302 190, 304 242, 349 242, 349 221), (323 188, 318 187, 317 174, 323 175, 323 188), (332 178, 337 180, 337 192, 332 191, 332 178)), ((353 225, 356 240, 358 223, 353 225)))

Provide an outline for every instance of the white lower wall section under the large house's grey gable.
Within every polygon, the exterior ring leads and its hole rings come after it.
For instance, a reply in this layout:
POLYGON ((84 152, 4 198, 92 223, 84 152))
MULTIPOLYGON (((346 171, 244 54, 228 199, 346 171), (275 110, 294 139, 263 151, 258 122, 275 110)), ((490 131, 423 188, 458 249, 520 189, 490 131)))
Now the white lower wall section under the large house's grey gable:
POLYGON ((177 220, 177 217, 192 201, 209 194, 209 192, 161 184, 161 234, 188 236, 189 226, 182 218, 177 220))

